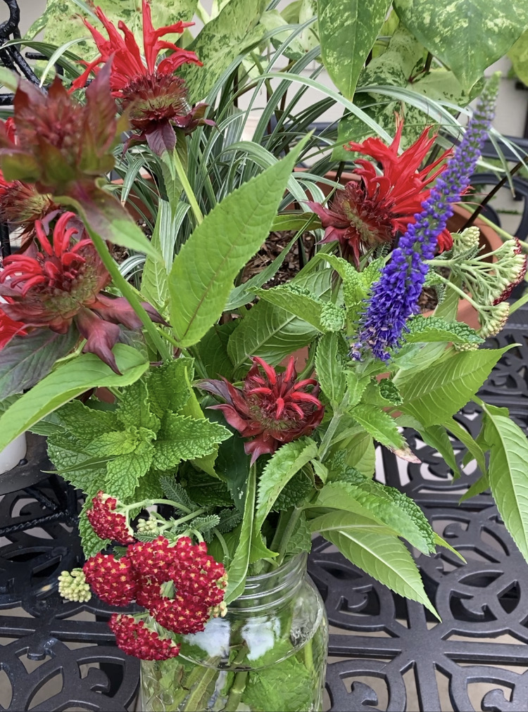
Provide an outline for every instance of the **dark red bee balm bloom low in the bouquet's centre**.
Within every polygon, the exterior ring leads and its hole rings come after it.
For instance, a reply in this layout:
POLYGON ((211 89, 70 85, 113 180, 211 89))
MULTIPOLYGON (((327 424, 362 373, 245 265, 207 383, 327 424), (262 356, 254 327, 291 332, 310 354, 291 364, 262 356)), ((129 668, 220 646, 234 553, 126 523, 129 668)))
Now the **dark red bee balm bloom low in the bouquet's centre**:
POLYGON ((255 356, 242 389, 226 379, 205 380, 199 385, 226 401, 211 407, 221 410, 242 437, 251 438, 244 449, 251 454, 253 464, 260 455, 274 453, 281 444, 309 435, 321 423, 324 407, 317 398, 319 384, 313 378, 296 383, 296 378, 293 356, 280 375, 255 356), (306 391, 309 386, 311 392, 306 391))

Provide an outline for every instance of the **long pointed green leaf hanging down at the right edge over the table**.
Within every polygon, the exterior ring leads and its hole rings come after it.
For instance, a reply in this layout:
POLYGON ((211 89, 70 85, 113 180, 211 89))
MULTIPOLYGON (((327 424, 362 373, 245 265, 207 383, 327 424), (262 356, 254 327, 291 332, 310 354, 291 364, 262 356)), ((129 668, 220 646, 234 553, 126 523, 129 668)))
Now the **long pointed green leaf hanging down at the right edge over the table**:
POLYGON ((484 407, 485 437, 490 443, 487 475, 497 509, 512 539, 528 559, 528 440, 512 420, 484 407))

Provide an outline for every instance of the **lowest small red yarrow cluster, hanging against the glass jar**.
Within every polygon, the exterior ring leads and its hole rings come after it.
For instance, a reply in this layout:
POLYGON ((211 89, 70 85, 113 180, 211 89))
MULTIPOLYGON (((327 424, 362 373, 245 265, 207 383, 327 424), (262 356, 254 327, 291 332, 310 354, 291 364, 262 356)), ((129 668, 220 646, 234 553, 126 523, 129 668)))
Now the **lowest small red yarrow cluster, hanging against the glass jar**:
POLYGON ((133 616, 115 613, 108 622, 115 635, 115 642, 127 655, 142 660, 167 660, 180 653, 180 645, 170 638, 160 638, 157 632, 147 628, 145 621, 133 616))

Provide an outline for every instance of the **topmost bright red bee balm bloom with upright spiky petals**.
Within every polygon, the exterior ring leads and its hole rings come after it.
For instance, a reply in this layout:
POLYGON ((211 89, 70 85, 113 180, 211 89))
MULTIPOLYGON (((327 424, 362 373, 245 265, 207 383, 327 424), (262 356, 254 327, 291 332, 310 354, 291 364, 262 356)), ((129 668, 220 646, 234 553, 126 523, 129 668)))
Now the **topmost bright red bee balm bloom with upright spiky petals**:
POLYGON ((160 40, 160 37, 169 33, 181 34, 186 27, 193 24, 192 22, 177 22, 155 30, 152 26, 149 1, 143 0, 144 63, 138 43, 125 23, 120 21, 118 24, 118 28, 123 32, 121 37, 118 29, 100 7, 95 9, 95 14, 105 26, 108 39, 85 20, 100 55, 87 64, 83 74, 73 82, 74 89, 85 86, 90 72, 97 72, 100 63, 108 62, 113 57, 110 78, 112 93, 120 98, 131 124, 140 131, 140 135, 134 140, 146 140, 156 153, 174 148, 176 137, 171 123, 185 131, 192 130, 202 122, 212 123, 202 119, 205 105, 198 105, 190 110, 185 81, 174 75, 175 70, 182 64, 194 63, 202 66, 202 63, 194 52, 183 50, 172 42, 160 40), (171 51, 170 56, 156 66, 157 56, 165 49, 171 51))

